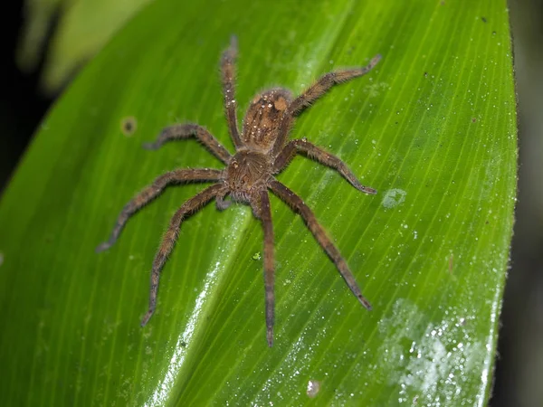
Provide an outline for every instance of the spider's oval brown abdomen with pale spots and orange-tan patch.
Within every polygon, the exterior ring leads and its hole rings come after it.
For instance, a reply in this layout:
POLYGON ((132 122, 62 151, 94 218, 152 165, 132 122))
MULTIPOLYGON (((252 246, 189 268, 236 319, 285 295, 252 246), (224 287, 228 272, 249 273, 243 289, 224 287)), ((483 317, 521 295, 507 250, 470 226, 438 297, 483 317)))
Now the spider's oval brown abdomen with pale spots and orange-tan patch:
POLYGON ((256 95, 243 119, 243 141, 262 152, 269 151, 278 136, 281 118, 291 99, 290 90, 283 88, 256 95))

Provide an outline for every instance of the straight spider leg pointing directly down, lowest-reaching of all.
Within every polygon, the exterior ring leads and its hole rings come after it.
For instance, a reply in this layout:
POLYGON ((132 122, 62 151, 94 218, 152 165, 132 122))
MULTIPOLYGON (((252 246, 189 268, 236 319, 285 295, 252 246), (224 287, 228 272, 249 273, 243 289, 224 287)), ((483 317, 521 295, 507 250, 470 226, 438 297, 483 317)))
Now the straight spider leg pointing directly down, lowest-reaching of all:
POLYGON ((268 345, 273 345, 273 223, 271 222, 270 196, 267 190, 260 192, 260 219, 264 232, 264 287, 266 292, 266 338, 268 345))

